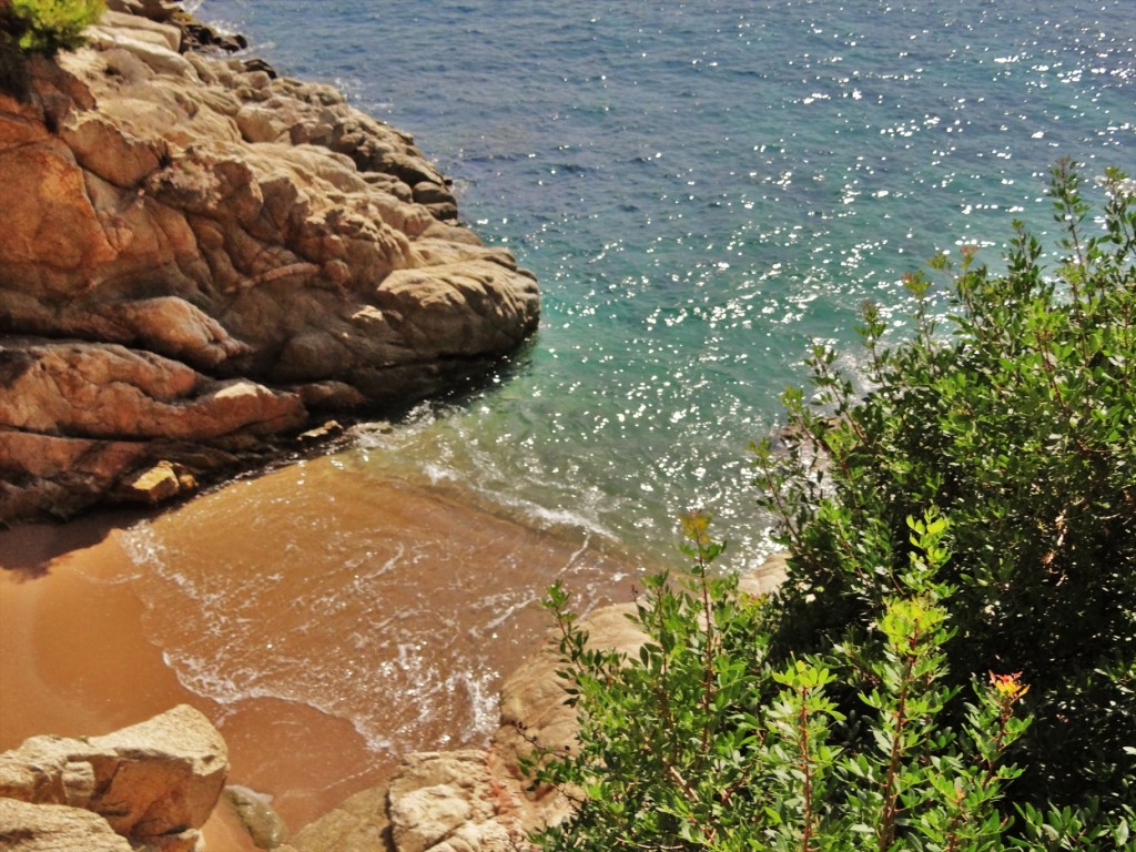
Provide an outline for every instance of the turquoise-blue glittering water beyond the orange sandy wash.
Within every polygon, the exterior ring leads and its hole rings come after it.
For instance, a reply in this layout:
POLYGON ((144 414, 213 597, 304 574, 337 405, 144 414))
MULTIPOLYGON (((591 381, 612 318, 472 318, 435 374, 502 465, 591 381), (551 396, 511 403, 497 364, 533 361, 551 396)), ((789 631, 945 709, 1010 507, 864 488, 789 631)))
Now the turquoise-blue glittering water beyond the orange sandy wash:
POLYGON ((501 375, 419 406, 344 475, 453 488, 649 558, 674 518, 767 546, 746 445, 811 341, 904 272, 1052 231, 1061 156, 1136 172, 1136 2, 204 0, 281 72, 414 133, 540 277, 501 375))

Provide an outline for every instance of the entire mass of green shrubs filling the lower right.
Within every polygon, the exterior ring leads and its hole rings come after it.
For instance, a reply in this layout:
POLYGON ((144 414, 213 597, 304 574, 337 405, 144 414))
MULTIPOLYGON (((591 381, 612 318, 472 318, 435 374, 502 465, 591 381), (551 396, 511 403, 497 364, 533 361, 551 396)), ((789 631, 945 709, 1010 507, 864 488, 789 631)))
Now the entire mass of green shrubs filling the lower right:
POLYGON ((548 849, 1133 849, 1136 192, 1104 184, 1091 228, 1053 169, 1047 272, 1014 224, 1004 274, 964 248, 908 278, 911 340, 866 307, 867 394, 816 349, 785 446, 753 448, 777 595, 711 575, 700 515, 637 658, 551 591, 582 733, 531 766, 575 802, 548 849))

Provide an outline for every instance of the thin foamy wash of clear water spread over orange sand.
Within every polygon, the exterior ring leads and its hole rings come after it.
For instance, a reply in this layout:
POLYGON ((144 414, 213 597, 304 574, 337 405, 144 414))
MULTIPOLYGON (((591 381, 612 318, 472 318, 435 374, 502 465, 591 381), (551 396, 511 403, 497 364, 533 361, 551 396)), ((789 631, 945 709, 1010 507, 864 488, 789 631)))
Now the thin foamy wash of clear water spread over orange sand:
POLYGON ((349 720, 375 752, 482 741, 557 579, 590 608, 627 565, 387 483, 351 457, 235 483, 127 531, 142 624, 192 692, 349 720), (177 613, 172 618, 170 613, 177 613))

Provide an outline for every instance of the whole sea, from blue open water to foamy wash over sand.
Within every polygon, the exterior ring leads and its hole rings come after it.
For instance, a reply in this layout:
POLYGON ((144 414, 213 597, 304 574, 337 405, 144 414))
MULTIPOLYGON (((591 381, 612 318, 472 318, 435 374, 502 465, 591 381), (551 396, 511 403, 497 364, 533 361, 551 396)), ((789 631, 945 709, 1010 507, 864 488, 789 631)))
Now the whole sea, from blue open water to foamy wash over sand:
POLYGON ((483 737, 492 646, 538 644, 542 588, 629 599, 683 566, 686 511, 725 570, 758 565, 747 448, 811 348, 855 377, 866 301, 901 341, 903 275, 963 244, 996 268, 1013 220, 1055 264, 1059 158, 1097 202, 1106 167, 1136 173, 1133 0, 187 6, 410 132, 542 289, 483 382, 126 535, 184 684, 310 704, 376 750, 483 737))

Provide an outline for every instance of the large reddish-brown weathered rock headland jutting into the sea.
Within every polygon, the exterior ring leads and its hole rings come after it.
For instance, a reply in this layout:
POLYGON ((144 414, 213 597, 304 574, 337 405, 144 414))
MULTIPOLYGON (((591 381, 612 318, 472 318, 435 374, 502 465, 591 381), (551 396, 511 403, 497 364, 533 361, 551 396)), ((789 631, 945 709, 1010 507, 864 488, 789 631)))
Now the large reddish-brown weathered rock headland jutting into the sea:
POLYGON ((0 520, 406 403, 534 329, 535 281, 409 136, 173 26, 91 35, 0 94, 0 520))

